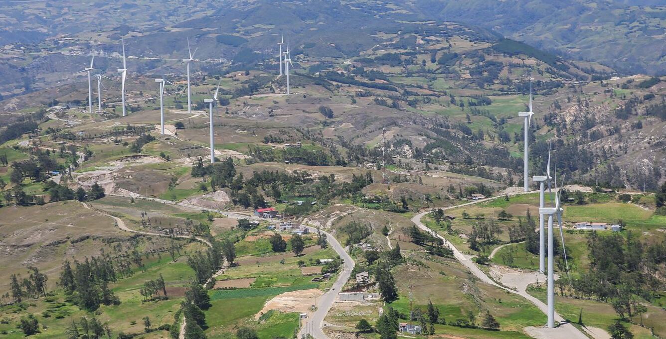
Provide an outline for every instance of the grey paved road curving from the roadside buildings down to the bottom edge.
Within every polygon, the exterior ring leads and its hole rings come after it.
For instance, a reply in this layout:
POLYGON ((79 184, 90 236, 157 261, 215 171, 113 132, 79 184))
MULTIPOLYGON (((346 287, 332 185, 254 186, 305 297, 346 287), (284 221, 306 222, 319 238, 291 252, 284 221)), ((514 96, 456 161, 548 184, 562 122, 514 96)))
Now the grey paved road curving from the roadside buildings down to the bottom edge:
MULTIPOLYGON (((310 229, 311 232, 316 232, 317 229, 314 227, 306 226, 308 229, 310 229)), ((308 318, 305 322, 305 326, 302 326, 300 329, 300 332, 298 332, 298 338, 300 338, 303 334, 310 334, 312 335, 315 339, 329 339, 326 334, 324 334, 324 330, 322 326, 324 326, 324 318, 326 318, 326 314, 328 314, 328 310, 330 310, 331 306, 333 306, 333 302, 335 302, 338 293, 342 289, 342 286, 349 280, 349 278, 352 275, 352 269, 354 269, 354 259, 349 256, 347 251, 345 251, 344 247, 338 243, 338 240, 333 237, 330 233, 322 231, 324 235, 326 235, 326 240, 328 240, 328 245, 340 255, 344 263, 342 264, 342 270, 340 271, 340 275, 338 275, 338 280, 333 283, 332 289, 328 290, 328 292, 324 293, 324 295, 320 296, 320 298, 317 299, 318 305, 317 305, 317 310, 312 314, 310 318, 308 318)))

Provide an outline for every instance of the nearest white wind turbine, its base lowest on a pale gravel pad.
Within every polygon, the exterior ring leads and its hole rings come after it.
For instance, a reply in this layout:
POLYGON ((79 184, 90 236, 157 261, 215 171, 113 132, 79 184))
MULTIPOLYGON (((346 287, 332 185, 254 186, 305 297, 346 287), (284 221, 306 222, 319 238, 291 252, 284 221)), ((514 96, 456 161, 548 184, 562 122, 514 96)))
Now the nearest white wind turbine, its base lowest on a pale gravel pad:
MULTIPOLYGON (((557 172, 557 168, 555 168, 557 172)), ((562 185, 564 184, 564 179, 562 179, 562 185)), ((560 188, 561 189, 561 188, 560 188)), ((555 254, 554 254, 554 238, 553 238, 553 215, 557 217, 557 223, 559 225, 559 233, 562 239, 562 253, 564 256, 564 261, 567 268, 567 279, 569 277, 569 262, 567 261, 567 251, 564 244, 564 233, 562 231, 562 211, 561 208, 561 192, 560 189, 557 189, 557 173, 555 173, 555 207, 543 207, 539 208, 539 213, 548 215, 548 273, 547 273, 547 328, 555 327, 555 279, 554 279, 554 269, 555 269, 555 254)))

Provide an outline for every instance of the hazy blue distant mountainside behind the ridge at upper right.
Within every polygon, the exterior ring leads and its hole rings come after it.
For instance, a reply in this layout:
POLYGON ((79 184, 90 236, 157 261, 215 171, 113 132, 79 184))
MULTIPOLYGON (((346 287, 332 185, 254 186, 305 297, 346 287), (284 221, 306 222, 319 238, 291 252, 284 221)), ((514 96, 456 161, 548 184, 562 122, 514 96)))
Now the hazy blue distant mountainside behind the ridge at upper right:
POLYGON ((400 0, 419 17, 494 29, 541 49, 627 72, 666 73, 661 0, 400 0))

